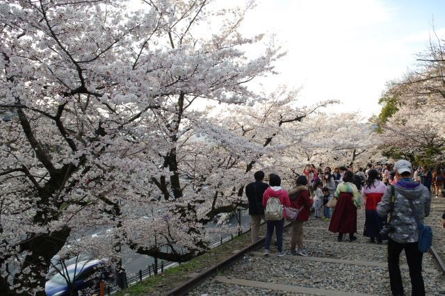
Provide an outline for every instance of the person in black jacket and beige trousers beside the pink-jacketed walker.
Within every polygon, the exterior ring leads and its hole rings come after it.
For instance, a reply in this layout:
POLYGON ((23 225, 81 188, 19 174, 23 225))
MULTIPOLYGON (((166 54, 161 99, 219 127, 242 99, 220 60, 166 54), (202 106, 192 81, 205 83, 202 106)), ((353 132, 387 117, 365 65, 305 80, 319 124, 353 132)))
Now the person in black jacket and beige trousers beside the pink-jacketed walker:
POLYGON ((255 181, 245 186, 245 195, 248 197, 250 215, 250 237, 252 243, 259 240, 259 225, 264 220, 263 194, 269 187, 264 180, 264 172, 254 173, 255 181))

